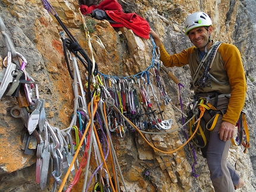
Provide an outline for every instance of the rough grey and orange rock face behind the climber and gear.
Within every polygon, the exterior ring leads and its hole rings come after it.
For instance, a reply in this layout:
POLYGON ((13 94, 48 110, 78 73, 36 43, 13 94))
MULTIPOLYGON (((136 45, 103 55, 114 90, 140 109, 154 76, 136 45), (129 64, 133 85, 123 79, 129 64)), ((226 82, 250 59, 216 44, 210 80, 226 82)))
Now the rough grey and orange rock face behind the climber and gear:
MULTIPOLYGON (((79 2, 92 4, 92 1, 79 2)), ((238 191, 255 191, 256 73, 254 58, 256 54, 255 27, 253 27, 255 14, 253 9, 250 10, 251 7, 256 6, 255 1, 230 0, 227 3, 209 0, 201 1, 199 4, 197 1, 190 0, 186 2, 120 0, 118 2, 124 12, 136 12, 145 18, 149 26, 161 36, 169 53, 178 53, 191 46, 191 42, 183 32, 183 22, 188 14, 195 11, 205 11, 211 15, 214 25, 213 39, 233 43, 239 48, 248 83, 245 111, 251 147, 246 154, 243 154, 242 147, 232 146, 229 161, 236 166, 236 170, 246 183, 245 187, 238 191)), ((90 49, 77 1, 53 0, 50 3, 91 59, 93 51, 100 73, 114 77, 129 77, 141 73, 151 64, 153 46, 150 38, 143 39, 126 27, 113 28, 106 20, 95 20, 86 16, 86 20, 93 23, 93 29, 90 31, 92 43, 92 49, 90 49), (101 39, 105 48, 96 42, 98 40, 96 36, 101 39)), ((35 81, 39 81, 39 96, 46 102, 47 121, 61 130, 67 128, 74 110, 74 95, 73 80, 68 74, 59 34, 63 31, 62 27, 55 17, 43 8, 42 1, 39 0, 0 1, 0 17, 5 23, 5 32, 13 42, 15 51, 27 59, 27 73, 35 81)), ((7 52, 7 46, 1 36, 1 63, 7 56, 7 52)), ((85 67, 79 64, 79 70, 85 84, 85 67)), ((186 106, 191 102, 193 95, 190 89, 189 69, 188 67, 172 68, 170 71, 185 86, 181 90, 181 96, 183 114, 186 114, 188 111, 186 106)), ((164 71, 160 73, 167 95, 171 98, 171 102, 168 105, 161 105, 161 109, 164 110, 164 119, 172 119, 171 130, 175 130, 182 125, 179 89, 164 71)), ((138 89, 138 85, 135 87, 138 89)), ((154 87, 157 90, 155 84, 154 87)), ((151 98, 154 100, 152 94, 151 98)), ((163 99, 161 102, 164 103, 163 99)), ((0 102, 0 191, 51 191, 52 180, 48 181, 44 190, 40 190, 39 184, 35 181, 36 150, 32 155, 25 155, 24 150, 21 150, 26 127, 22 119, 15 119, 10 114, 11 109, 17 105, 17 99, 13 96, 3 96, 0 102)), ((155 103, 153 107, 158 110, 155 103)), ((126 184, 124 187, 119 175, 121 191, 214 191, 206 159, 202 158, 199 149, 195 147, 197 157, 195 174, 199 174, 197 178, 192 176, 191 165, 194 160, 188 145, 171 153, 185 143, 183 130, 167 134, 144 135, 151 145, 146 143, 138 132, 127 131, 124 138, 112 134, 115 153, 126 184), (152 146, 165 153, 152 149, 152 146)), ((110 163, 111 161, 108 165, 110 163)), ((95 162, 91 160, 90 174, 95 167, 95 162)), ((82 190, 83 179, 82 174, 74 191, 82 190)))

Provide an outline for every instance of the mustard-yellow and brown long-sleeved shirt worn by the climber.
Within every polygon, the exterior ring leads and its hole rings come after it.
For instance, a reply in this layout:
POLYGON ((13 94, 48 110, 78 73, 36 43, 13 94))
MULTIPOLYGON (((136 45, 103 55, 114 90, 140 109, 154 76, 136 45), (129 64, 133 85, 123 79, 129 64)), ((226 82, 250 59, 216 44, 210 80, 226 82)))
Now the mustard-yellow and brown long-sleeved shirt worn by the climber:
MULTIPOLYGON (((159 48, 161 54, 160 60, 166 67, 182 67, 183 65, 189 65, 193 77, 199 65, 198 48, 193 46, 174 55, 169 55, 166 49, 164 49, 163 44, 161 44, 159 48)), ((236 125, 246 96, 246 79, 241 54, 236 46, 221 43, 213 62, 210 74, 218 81, 229 82, 229 84, 224 85, 211 81, 211 87, 197 87, 195 93, 214 91, 218 93, 231 93, 227 112, 223 115, 222 120, 236 125)), ((201 74, 202 71, 199 73, 199 77, 201 74)))

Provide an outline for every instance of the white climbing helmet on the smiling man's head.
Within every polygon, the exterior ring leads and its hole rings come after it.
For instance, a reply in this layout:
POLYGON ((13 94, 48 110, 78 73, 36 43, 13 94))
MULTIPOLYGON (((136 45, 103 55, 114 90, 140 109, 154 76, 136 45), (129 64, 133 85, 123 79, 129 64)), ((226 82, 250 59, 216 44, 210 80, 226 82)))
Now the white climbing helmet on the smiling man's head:
POLYGON ((208 27, 212 24, 209 15, 204 12, 194 12, 185 21, 185 34, 188 35, 188 32, 196 27, 208 27))

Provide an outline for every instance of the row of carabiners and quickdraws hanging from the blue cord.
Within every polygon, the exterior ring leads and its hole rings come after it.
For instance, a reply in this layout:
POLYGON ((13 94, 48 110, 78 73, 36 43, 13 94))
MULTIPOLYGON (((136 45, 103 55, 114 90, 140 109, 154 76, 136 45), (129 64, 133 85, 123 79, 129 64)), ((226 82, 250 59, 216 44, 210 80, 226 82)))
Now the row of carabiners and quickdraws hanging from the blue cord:
MULTIPOLYGON (((158 62, 155 60, 155 62, 158 62)), ((167 130, 170 128, 170 120, 164 121, 163 111, 160 105, 161 99, 167 105, 170 102, 170 97, 166 94, 161 81, 159 68, 154 64, 150 66, 154 74, 148 71, 143 71, 140 76, 133 77, 110 77, 102 74, 105 88, 114 99, 115 106, 124 114, 133 124, 141 130, 145 128, 157 128, 158 130, 167 130), (154 90, 152 80, 158 85, 158 89, 154 90), (152 102, 151 95, 154 97, 152 102), (153 106, 158 108, 153 109, 153 106)), ((100 84, 101 77, 99 77, 100 84)), ((117 131, 120 137, 124 136, 126 131, 133 131, 133 128, 120 117, 117 112, 111 110, 108 113, 108 125, 111 131, 117 131)))

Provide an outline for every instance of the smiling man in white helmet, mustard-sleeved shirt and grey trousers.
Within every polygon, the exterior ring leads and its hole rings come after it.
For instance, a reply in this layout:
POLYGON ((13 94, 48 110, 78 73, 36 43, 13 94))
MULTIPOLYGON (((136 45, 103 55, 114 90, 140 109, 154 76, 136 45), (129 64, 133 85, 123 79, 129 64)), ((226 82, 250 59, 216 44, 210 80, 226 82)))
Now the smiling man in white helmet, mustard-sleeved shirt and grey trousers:
MULTIPOLYGON (((241 114, 246 96, 246 79, 238 48, 211 39, 213 25, 204 12, 195 12, 185 21, 185 34, 193 43, 181 53, 169 55, 154 30, 150 34, 160 48, 160 60, 166 67, 189 65, 191 70, 194 100, 205 98, 223 114, 218 116, 213 130, 208 131, 207 122, 213 117, 213 110, 205 110, 200 121, 207 144, 201 149, 207 158, 210 178, 217 192, 232 192, 241 188, 244 182, 227 162, 230 139, 235 134, 235 125, 241 114)), ((197 137, 198 143, 202 138, 197 137)))

